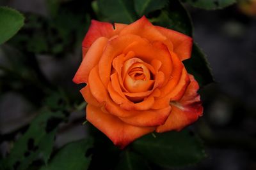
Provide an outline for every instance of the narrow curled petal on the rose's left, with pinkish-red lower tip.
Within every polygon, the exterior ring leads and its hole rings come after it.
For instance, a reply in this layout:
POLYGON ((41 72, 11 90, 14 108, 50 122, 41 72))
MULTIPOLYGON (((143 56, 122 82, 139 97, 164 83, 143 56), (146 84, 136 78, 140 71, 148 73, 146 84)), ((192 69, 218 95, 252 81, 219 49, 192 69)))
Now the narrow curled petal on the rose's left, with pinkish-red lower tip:
POLYGON ((101 37, 92 44, 73 78, 75 83, 88 83, 88 75, 98 64, 107 42, 108 38, 101 37))

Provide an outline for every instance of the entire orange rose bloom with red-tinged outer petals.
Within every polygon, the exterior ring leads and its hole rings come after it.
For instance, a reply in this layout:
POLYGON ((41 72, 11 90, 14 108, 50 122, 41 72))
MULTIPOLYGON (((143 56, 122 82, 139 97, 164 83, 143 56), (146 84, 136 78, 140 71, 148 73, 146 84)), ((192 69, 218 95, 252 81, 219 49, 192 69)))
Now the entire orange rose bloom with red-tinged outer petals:
POLYGON ((73 79, 86 83, 86 119, 120 148, 195 122, 203 112, 199 86, 182 64, 191 46, 189 36, 146 17, 129 25, 92 20, 73 79))

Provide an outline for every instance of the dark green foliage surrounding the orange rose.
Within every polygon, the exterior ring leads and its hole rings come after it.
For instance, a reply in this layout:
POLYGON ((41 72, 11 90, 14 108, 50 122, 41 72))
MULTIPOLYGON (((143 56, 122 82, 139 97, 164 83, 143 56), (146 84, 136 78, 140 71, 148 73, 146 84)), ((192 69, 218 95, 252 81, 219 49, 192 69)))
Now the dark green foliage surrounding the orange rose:
MULTIPOLYGON (((80 50, 91 18, 129 24, 145 15, 155 25, 193 36, 193 24, 184 4, 214 10, 232 3, 233 0, 45 0, 47 15, 22 12, 26 18, 24 27, 23 15, 1 7, 0 43, 22 28, 1 45, 0 92, 21 94, 35 105, 38 114, 18 139, 16 133, 12 134, 13 147, 1 160, 0 169, 166 169, 200 162, 205 157, 202 141, 187 130, 157 134, 156 138, 148 134, 119 150, 87 123, 90 138, 55 148, 54 138, 61 125, 69 124, 70 113, 81 110, 86 103, 81 98, 70 99, 67 89, 49 81, 36 56, 61 59, 80 50)), ((196 43, 191 59, 184 64, 201 86, 213 81, 205 54, 196 43)))

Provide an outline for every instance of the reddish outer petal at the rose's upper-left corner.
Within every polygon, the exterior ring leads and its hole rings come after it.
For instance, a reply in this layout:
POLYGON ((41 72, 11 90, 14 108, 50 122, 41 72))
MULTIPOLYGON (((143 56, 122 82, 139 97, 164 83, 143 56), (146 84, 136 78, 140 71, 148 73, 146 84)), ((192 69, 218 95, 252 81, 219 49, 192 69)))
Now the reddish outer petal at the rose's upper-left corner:
POLYGON ((82 43, 84 55, 96 39, 102 36, 111 38, 112 36, 117 35, 125 26, 125 24, 115 24, 114 29, 113 25, 109 22, 99 22, 97 20, 92 20, 82 43))

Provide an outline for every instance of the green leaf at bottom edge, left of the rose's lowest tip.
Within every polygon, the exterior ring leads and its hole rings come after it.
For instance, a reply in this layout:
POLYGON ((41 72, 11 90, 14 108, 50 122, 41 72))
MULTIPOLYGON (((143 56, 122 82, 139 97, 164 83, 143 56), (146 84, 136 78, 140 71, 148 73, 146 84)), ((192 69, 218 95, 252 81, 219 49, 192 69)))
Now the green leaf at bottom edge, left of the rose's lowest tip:
POLYGON ((47 166, 40 170, 86 170, 90 164, 91 156, 88 155, 92 148, 92 139, 82 139, 80 141, 65 145, 47 166))

